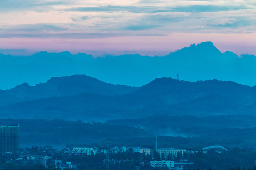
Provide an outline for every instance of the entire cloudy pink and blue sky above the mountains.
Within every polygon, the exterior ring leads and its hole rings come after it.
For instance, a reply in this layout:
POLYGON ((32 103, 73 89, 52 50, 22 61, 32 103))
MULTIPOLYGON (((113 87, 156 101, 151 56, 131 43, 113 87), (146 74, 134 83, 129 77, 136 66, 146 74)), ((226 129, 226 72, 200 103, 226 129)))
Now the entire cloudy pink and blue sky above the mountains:
POLYGON ((0 53, 166 55, 212 41, 256 55, 255 0, 0 0, 0 53))

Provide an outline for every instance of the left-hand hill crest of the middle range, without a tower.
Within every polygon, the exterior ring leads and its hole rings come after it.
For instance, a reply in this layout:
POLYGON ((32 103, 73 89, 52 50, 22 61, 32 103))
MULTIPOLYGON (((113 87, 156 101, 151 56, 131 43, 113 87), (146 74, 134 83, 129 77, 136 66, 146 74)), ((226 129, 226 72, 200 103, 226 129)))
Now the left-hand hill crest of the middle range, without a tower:
POLYGON ((86 75, 52 77, 46 83, 29 86, 27 83, 5 90, 22 100, 33 100, 49 97, 69 96, 79 93, 95 93, 102 95, 124 95, 137 90, 137 87, 113 85, 99 81, 86 75))

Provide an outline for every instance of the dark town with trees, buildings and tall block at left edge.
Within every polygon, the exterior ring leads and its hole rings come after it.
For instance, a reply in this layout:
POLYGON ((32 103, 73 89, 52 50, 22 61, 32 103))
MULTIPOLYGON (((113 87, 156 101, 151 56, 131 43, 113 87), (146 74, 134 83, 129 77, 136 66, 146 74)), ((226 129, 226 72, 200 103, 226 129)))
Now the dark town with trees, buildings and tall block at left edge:
MULTIPOLYGON (((233 154, 233 152, 250 152, 256 155, 254 148, 246 150, 234 148, 229 151, 219 145, 204 147, 196 151, 184 148, 158 148, 157 136, 155 148, 109 146, 107 139, 104 146, 72 147, 62 150, 51 146, 19 148, 19 133, 18 124, 0 126, 0 168, 5 170, 193 170, 200 169, 199 166, 203 167, 200 160, 205 161, 206 166, 208 164, 209 167, 212 166, 205 157, 217 159, 216 156, 219 158, 225 156, 223 159, 227 159, 230 155, 234 157, 236 153, 233 154)), ((230 159, 234 158, 230 157, 230 159)), ((235 158, 236 161, 243 161, 243 159, 247 158, 235 158)), ((255 162, 256 160, 253 160, 253 165, 255 162)), ((233 166, 234 169, 230 164, 230 170, 241 169, 241 167, 236 169, 234 163, 233 166)), ((255 168, 254 166, 253 170, 255 168)), ((243 170, 246 169, 250 170, 250 166, 243 167, 243 170)))

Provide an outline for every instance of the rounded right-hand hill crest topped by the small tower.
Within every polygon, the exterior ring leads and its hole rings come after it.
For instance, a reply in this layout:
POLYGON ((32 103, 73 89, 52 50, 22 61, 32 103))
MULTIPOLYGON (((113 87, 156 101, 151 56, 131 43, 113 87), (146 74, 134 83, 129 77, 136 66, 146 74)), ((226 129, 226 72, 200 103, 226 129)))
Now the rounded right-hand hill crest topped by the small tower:
MULTIPOLYGON (((151 98, 153 96, 158 101, 161 99, 159 103, 175 104, 208 95, 227 96, 231 99, 233 95, 236 95, 241 99, 251 95, 253 89, 253 87, 247 85, 241 85, 231 81, 218 81, 216 79, 189 82, 178 81, 172 78, 157 78, 131 94, 143 96, 144 98, 151 98)), ((232 99, 232 101, 234 100, 236 99, 232 99)))

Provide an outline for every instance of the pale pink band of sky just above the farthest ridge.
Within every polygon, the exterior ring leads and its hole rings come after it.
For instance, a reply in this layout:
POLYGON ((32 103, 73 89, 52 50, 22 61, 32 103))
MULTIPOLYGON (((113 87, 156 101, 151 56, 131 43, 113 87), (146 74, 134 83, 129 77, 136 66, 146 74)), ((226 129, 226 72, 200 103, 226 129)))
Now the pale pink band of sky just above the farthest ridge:
POLYGON ((207 34, 173 33, 168 36, 119 36, 92 39, 65 38, 2 38, 0 49, 27 49, 28 51, 70 51, 107 54, 139 53, 141 55, 166 55, 193 43, 212 41, 220 51, 233 51, 240 55, 256 54, 256 33, 207 34), (94 52, 93 52, 94 51, 94 52))

